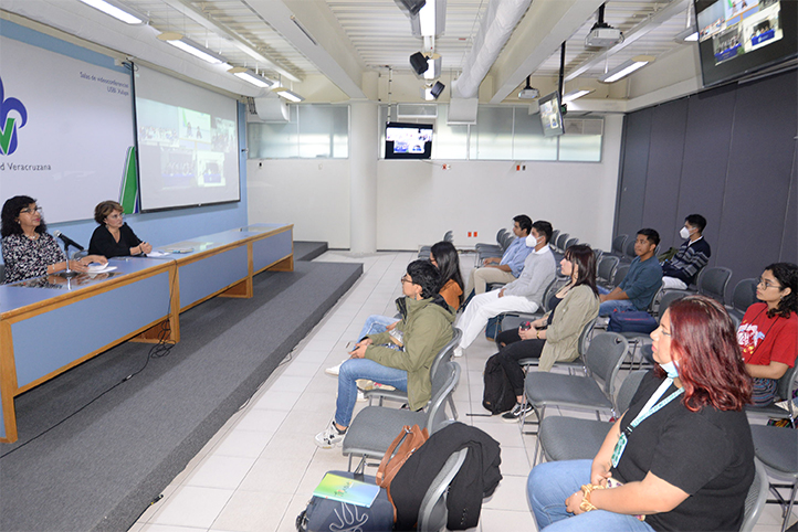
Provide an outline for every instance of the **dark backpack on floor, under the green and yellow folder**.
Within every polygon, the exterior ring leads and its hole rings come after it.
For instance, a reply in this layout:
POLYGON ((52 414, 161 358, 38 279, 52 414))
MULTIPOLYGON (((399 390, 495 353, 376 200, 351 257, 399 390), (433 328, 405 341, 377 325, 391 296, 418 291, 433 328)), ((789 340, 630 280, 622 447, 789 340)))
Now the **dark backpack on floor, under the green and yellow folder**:
MULTIPOLYGON (((346 471, 330 471, 346 478, 375 483, 375 478, 346 471)), ((298 532, 384 532, 393 529, 393 504, 385 488, 379 490, 370 507, 313 497, 296 518, 298 532)))

